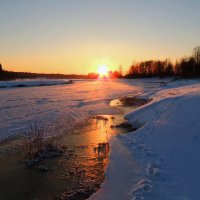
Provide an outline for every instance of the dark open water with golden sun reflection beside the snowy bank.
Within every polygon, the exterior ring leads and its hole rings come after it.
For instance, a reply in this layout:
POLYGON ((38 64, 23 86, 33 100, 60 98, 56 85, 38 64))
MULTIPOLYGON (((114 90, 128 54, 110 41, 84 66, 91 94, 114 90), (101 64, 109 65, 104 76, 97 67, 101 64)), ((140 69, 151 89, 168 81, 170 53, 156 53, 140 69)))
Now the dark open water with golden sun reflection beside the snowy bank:
POLYGON ((123 115, 104 115, 88 119, 72 134, 58 138, 66 145, 61 157, 42 160, 38 165, 50 168, 41 172, 26 167, 20 153, 5 153, 18 140, 1 145, 0 199, 86 199, 104 180, 108 163, 109 139, 126 132, 115 128, 123 115))

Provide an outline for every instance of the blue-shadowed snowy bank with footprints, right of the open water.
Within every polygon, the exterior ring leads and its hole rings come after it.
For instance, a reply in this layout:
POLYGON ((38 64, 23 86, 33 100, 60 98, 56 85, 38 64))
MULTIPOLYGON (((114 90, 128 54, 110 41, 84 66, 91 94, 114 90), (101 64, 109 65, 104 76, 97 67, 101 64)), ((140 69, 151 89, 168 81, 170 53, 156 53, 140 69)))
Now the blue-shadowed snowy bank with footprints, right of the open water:
POLYGON ((140 97, 125 118, 139 128, 111 140, 110 164, 90 200, 200 198, 200 83, 176 81, 140 97))

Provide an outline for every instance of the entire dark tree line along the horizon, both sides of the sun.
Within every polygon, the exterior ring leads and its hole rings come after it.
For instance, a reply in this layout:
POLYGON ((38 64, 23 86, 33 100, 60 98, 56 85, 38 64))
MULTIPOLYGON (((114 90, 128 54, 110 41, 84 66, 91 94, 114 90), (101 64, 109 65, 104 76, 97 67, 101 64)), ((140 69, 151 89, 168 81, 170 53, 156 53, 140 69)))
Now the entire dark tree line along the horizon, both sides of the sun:
MULTIPOLYGON (((118 70, 109 71, 105 78, 147 78, 147 77, 180 77, 193 78, 200 77, 200 63, 196 63, 193 57, 185 57, 172 63, 169 59, 148 60, 134 63, 128 71, 123 72, 122 66, 118 70)), ((12 72, 3 70, 0 64, 0 81, 14 80, 24 78, 58 78, 58 79, 97 79, 98 73, 89 73, 88 75, 77 74, 44 74, 28 72, 12 72)))

